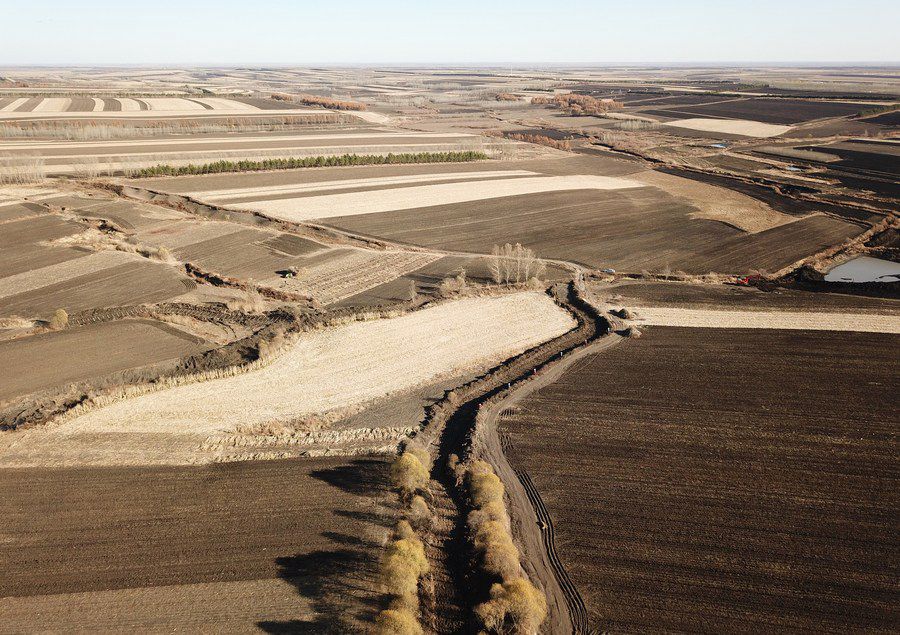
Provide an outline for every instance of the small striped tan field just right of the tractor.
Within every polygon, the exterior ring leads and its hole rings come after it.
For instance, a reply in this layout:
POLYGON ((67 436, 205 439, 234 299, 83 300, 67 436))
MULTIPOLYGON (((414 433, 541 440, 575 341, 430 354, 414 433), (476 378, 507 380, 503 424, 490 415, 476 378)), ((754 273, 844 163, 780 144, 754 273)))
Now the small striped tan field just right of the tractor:
POLYGON ((355 249, 305 268, 298 278, 273 277, 262 283, 309 295, 328 305, 390 282, 439 258, 438 254, 355 249))

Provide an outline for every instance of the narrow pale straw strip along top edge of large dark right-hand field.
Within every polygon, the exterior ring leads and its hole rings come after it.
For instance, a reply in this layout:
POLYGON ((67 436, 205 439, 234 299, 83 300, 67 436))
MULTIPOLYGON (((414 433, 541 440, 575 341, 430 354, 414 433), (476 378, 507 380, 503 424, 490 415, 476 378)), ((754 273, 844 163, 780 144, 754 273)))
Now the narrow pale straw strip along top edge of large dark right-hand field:
POLYGON ((638 309, 636 313, 640 324, 657 326, 900 333, 900 317, 896 315, 649 307, 638 309))

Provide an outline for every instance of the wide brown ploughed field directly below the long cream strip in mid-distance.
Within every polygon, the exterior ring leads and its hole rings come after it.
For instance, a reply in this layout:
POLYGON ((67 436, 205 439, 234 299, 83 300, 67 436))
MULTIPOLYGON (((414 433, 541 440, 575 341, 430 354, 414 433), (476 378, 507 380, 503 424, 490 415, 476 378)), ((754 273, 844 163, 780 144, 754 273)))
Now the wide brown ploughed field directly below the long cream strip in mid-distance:
POLYGON ((862 229, 828 217, 758 234, 695 219, 690 205, 656 188, 511 196, 415 210, 336 217, 366 236, 466 252, 521 242, 545 258, 592 268, 689 273, 775 271, 862 229))

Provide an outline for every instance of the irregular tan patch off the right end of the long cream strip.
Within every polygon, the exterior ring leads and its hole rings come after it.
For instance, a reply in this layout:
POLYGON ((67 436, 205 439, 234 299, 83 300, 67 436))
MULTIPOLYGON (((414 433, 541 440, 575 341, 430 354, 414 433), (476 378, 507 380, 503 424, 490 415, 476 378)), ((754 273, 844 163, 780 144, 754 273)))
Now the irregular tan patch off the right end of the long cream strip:
POLYGON ((750 234, 798 220, 798 217, 777 212, 746 194, 700 181, 655 170, 641 172, 631 178, 687 199, 700 209, 699 213, 691 215, 692 218, 721 221, 750 234))

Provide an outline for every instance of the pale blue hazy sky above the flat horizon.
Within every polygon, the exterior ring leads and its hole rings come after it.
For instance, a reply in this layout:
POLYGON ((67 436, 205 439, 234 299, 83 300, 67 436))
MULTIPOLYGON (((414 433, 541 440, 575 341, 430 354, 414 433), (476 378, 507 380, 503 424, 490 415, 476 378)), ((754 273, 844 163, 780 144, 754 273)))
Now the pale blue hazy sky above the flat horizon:
POLYGON ((897 63, 898 32, 898 0, 0 0, 0 66, 897 63))

